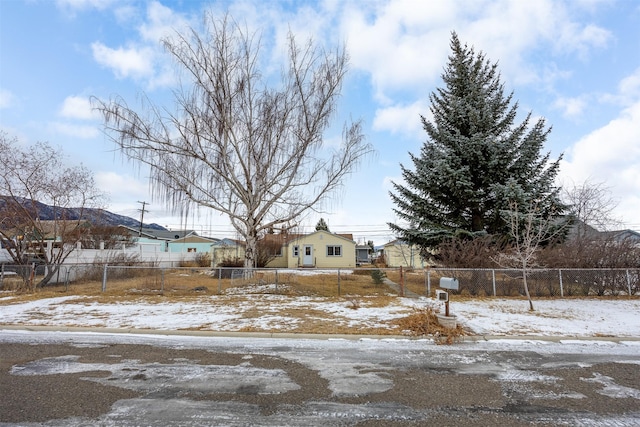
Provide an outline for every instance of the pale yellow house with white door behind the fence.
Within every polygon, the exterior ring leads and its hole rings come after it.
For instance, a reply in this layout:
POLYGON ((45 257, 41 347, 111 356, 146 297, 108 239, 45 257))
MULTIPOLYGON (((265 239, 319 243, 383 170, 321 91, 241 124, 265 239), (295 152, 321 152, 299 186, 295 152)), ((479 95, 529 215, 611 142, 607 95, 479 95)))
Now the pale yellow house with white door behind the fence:
POLYGON ((356 266, 356 242, 351 234, 319 230, 285 239, 279 255, 267 267, 275 268, 353 268, 356 266))

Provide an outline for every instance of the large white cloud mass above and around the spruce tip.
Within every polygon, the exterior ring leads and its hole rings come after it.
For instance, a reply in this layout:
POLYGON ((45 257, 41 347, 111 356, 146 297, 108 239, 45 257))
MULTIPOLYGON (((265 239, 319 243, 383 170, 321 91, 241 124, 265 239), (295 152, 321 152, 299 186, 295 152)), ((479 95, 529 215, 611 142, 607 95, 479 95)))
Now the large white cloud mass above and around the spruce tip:
POLYGON ((553 64, 540 63, 537 50, 584 56, 611 40, 607 30, 573 21, 567 7, 551 0, 356 3, 343 10, 342 28, 352 64, 371 74, 386 101, 398 90, 425 96, 421 88, 446 64, 451 31, 498 61, 506 81, 539 85, 553 64))

